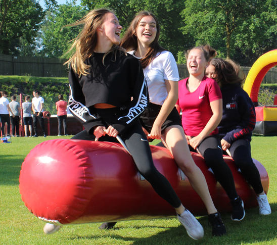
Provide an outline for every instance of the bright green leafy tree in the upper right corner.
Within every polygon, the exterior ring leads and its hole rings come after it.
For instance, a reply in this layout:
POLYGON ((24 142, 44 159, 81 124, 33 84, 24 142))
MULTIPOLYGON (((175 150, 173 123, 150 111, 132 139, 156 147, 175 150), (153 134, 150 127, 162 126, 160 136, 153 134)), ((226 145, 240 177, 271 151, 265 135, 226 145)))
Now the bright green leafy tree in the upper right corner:
POLYGON ((274 14, 270 13, 276 13, 274 3, 275 0, 187 1, 182 11, 182 31, 191 33, 197 44, 211 44, 226 58, 234 56, 236 50, 255 52, 272 34, 265 30, 276 25, 274 14))

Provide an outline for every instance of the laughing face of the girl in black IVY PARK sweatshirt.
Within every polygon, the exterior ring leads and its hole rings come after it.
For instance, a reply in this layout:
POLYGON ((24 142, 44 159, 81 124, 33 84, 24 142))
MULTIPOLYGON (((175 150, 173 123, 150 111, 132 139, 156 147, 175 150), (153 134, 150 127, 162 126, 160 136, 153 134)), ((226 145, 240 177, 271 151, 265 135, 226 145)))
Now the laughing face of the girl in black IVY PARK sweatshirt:
POLYGON ((106 40, 110 42, 111 45, 118 45, 120 43, 122 26, 119 25, 119 21, 113 13, 107 13, 105 15, 104 22, 99 29, 103 35, 106 36, 106 40))

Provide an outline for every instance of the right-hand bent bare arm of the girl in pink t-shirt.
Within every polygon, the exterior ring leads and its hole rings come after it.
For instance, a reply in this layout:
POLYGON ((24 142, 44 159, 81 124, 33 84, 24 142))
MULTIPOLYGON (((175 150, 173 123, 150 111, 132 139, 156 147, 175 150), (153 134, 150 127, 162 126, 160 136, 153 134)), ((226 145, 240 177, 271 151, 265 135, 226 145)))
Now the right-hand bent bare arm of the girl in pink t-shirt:
POLYGON ((203 130, 196 136, 190 140, 190 145, 196 149, 197 146, 202 142, 204 138, 206 138, 220 123, 222 118, 222 99, 212 101, 210 103, 212 113, 210 120, 203 128, 203 130))

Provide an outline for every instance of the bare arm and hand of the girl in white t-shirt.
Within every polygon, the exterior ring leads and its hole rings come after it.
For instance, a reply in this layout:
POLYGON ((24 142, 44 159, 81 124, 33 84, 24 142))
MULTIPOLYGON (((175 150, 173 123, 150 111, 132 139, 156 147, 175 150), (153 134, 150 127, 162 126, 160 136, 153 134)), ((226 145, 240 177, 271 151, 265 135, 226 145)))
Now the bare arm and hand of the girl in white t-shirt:
POLYGON ((151 136, 149 136, 150 138, 161 138, 162 124, 164 123, 178 100, 178 82, 165 80, 165 86, 168 95, 162 105, 159 115, 157 116, 153 124, 153 128, 150 133, 151 136))

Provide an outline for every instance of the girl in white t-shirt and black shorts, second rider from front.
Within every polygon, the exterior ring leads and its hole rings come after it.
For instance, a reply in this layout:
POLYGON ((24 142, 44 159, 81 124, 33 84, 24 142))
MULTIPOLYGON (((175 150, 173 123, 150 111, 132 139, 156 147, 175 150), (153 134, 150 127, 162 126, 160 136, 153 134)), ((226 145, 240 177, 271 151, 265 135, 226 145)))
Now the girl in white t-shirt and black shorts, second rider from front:
MULTIPOLYGON (((179 80, 177 65, 173 55, 159 45, 159 34, 157 18, 143 11, 133 19, 121 42, 128 53, 140 59, 147 80, 150 104, 141 115, 141 123, 149 139, 166 142, 176 163, 203 200, 213 227, 212 234, 220 236, 226 233, 225 226, 213 204, 205 177, 192 159, 175 108, 179 80)), ((184 210, 183 214, 186 212, 184 210)), ((180 221, 182 214, 177 218, 180 221)), ((102 228, 110 228, 109 223, 103 224, 102 228)))

